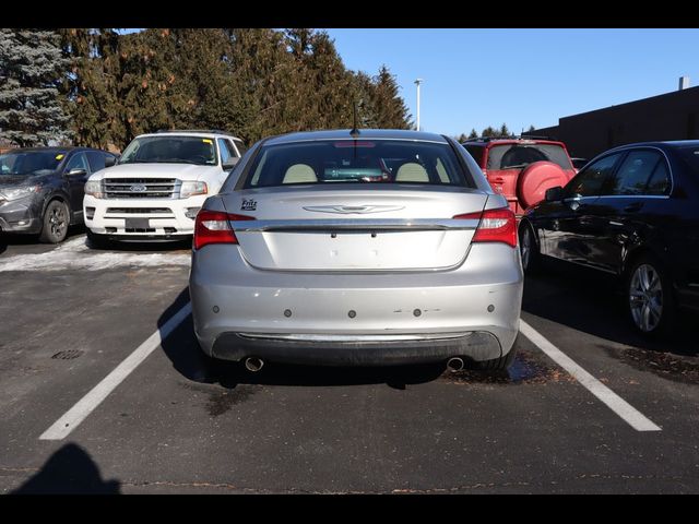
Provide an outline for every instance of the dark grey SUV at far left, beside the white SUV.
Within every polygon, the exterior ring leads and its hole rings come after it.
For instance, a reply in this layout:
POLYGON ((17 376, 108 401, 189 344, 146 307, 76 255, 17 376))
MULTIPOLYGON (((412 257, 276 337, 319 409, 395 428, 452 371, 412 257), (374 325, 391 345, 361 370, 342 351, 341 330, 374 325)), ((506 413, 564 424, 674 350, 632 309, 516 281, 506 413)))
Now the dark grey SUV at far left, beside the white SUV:
POLYGON ((83 222, 83 188, 91 174, 117 157, 90 147, 29 147, 0 155, 0 231, 66 238, 83 222))

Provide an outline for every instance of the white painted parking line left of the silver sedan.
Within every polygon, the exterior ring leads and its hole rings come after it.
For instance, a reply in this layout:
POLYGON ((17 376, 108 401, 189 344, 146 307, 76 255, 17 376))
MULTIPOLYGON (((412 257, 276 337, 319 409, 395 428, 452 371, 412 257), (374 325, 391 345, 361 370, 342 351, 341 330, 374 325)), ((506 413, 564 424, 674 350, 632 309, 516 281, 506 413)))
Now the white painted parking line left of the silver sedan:
POLYGON ((90 393, 83 396, 78 404, 71 407, 66 414, 56 420, 48 428, 39 440, 61 440, 64 439, 80 422, 82 422, 109 393, 111 393, 131 371, 133 371, 143 360, 147 358, 155 348, 182 322, 192 311, 191 302, 187 302, 174 317, 153 333, 143 344, 135 348, 114 371, 105 377, 102 382, 95 385, 90 393))

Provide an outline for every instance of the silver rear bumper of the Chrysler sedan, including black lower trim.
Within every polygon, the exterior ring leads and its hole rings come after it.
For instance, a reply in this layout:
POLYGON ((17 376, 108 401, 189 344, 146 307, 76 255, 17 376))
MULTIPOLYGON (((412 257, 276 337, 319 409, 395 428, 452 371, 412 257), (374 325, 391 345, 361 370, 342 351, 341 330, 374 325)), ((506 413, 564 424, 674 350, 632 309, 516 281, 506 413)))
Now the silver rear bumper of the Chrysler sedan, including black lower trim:
POLYGON ((193 252, 189 285, 203 352, 232 360, 490 360, 512 347, 522 300, 519 252, 496 243, 473 245, 450 271, 364 274, 262 271, 237 246, 212 245, 193 252), (406 341, 416 335, 429 340, 406 341))

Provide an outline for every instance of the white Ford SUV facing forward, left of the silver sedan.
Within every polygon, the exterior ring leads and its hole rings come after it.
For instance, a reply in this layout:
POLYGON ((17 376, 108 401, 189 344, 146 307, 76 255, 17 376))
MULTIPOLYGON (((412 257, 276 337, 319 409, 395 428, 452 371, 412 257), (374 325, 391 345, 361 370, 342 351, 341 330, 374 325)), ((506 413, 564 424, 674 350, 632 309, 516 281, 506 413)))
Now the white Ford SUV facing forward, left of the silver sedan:
POLYGON ((204 200, 218 192, 244 153, 242 141, 223 132, 137 136, 117 165, 85 183, 83 216, 91 243, 191 236, 204 200))

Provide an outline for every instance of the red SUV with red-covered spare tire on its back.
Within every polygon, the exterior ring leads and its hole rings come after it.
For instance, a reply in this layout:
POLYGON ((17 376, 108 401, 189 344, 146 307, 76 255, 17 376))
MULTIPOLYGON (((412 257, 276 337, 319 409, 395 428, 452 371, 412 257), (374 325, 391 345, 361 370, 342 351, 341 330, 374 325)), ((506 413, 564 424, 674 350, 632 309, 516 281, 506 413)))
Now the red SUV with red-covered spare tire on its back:
POLYGON ((544 200, 548 188, 565 186, 576 175, 562 142, 510 136, 472 139, 462 145, 518 216, 544 200))

